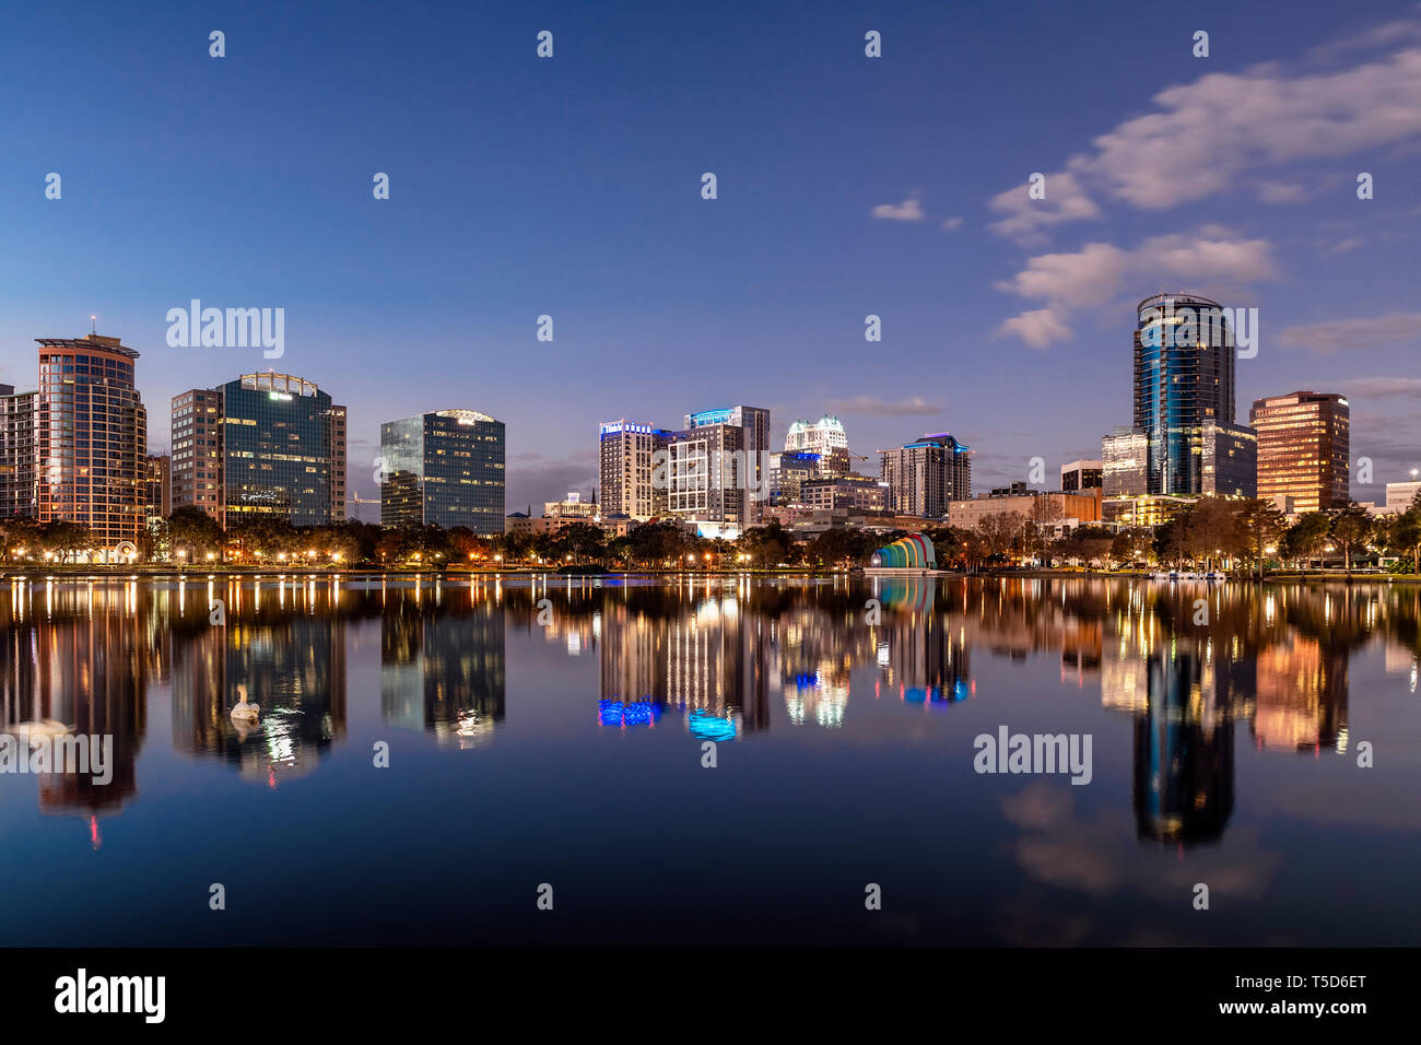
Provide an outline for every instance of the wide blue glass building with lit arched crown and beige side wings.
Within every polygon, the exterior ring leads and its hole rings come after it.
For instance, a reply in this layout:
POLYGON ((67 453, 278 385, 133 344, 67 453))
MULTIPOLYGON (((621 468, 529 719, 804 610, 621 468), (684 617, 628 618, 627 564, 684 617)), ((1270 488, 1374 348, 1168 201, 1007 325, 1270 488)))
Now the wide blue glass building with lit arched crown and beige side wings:
POLYGON ((172 503, 223 526, 345 519, 345 408, 291 374, 243 374, 172 401, 172 503))

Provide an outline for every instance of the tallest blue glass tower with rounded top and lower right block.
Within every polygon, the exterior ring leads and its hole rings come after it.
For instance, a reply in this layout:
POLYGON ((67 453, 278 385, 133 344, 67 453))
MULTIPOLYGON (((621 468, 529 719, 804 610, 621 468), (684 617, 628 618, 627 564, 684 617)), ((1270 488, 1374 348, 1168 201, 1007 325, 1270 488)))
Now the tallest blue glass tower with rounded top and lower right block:
POLYGON ((1218 301, 1161 293, 1135 326, 1134 428, 1145 493, 1253 496, 1256 439, 1233 422, 1233 330, 1218 301))

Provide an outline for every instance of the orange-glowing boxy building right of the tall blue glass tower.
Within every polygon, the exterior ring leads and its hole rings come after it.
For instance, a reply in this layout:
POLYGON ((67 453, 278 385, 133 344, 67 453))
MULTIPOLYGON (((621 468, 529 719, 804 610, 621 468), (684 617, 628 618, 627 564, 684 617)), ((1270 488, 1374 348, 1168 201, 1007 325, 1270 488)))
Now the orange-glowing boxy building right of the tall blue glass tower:
POLYGON ((1313 391, 1255 400, 1249 424, 1258 432, 1258 496, 1292 498, 1297 512, 1349 499, 1347 400, 1313 391))

